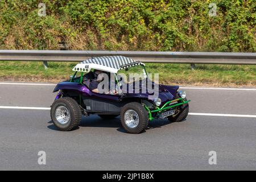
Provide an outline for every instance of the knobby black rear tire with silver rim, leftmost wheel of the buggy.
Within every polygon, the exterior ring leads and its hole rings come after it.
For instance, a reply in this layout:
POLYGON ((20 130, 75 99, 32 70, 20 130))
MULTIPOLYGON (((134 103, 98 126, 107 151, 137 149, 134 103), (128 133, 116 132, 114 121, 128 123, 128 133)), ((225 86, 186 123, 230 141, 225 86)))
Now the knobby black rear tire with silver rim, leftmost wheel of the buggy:
POLYGON ((70 131, 80 125, 82 119, 81 109, 73 98, 59 98, 52 104, 51 118, 57 129, 70 131))

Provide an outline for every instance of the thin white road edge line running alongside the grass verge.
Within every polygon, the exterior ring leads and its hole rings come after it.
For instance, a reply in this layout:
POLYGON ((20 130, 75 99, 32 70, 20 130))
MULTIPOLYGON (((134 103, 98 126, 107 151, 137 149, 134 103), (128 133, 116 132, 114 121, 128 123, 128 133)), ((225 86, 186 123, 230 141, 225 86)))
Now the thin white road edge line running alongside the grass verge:
MULTIPOLYGON (((56 86, 57 84, 38 84, 38 83, 22 83, 22 82, 0 82, 0 85, 34 85, 34 86, 56 86)), ((243 90, 243 91, 256 91, 256 88, 219 88, 219 87, 188 87, 180 86, 180 89, 198 89, 198 90, 243 90)))

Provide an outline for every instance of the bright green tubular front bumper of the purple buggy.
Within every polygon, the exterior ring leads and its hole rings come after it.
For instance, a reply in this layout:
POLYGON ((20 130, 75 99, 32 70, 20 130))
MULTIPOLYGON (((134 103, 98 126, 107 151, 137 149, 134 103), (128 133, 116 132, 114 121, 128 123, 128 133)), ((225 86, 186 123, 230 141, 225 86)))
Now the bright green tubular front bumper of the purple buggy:
POLYGON ((190 102, 190 101, 191 100, 184 101, 183 98, 177 98, 175 100, 166 102, 166 104, 164 104, 161 108, 156 107, 155 110, 150 110, 146 105, 144 105, 144 108, 148 111, 148 119, 151 121, 152 119, 154 119, 154 117, 152 117, 152 113, 161 113, 162 111, 171 109, 172 107, 180 106, 183 104, 188 104, 188 102, 190 102), (181 102, 171 105, 171 106, 167 106, 167 105, 171 104, 172 102, 177 102, 177 101, 181 101, 181 102))

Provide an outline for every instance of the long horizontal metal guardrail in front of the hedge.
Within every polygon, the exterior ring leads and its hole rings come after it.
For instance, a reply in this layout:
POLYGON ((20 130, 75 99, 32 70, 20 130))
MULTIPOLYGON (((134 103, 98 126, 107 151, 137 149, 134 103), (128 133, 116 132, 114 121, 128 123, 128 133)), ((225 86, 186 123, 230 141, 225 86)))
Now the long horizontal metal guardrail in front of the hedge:
POLYGON ((36 51, 0 50, 6 61, 82 61, 89 57, 122 55, 144 63, 255 64, 256 53, 156 51, 36 51))

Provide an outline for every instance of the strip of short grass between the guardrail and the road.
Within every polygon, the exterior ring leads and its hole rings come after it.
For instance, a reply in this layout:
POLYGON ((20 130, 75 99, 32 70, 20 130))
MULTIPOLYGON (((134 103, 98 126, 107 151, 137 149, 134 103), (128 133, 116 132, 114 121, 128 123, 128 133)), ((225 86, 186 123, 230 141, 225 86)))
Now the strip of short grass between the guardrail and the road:
MULTIPOLYGON (((0 61, 1 81, 59 82, 72 75, 76 63, 0 61)), ((148 73, 159 73, 162 84, 195 86, 256 86, 256 65, 146 64, 148 73)))

